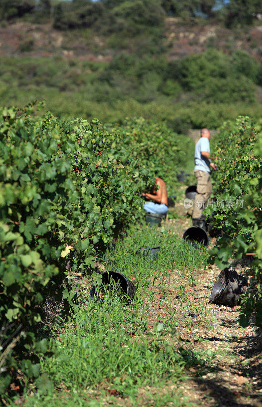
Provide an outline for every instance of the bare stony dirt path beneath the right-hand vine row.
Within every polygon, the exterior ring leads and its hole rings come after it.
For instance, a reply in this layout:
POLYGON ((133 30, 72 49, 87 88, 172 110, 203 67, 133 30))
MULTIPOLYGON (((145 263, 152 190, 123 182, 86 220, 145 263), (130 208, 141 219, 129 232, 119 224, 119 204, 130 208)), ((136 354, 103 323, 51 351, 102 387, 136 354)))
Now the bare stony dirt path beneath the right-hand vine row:
MULTIPOLYGON (((191 225, 182 200, 176 203, 173 211, 177 219, 168 220, 167 217, 165 226, 172 227, 182 236, 191 225)), ((211 244, 214 243, 213 239, 211 244)), ((236 264, 235 268, 240 274, 250 274, 248 265, 236 264)), ((170 304, 174 304, 179 320, 178 345, 202 353, 203 359, 205 354, 209 357, 209 363, 200 374, 194 368, 190 369, 192 376, 183 384, 183 393, 193 405, 261 407, 261 330, 252 324, 245 329, 239 325, 239 306, 227 308, 208 302, 219 273, 216 266, 202 270, 190 286, 186 273, 171 272, 168 283, 159 283, 161 305, 159 309, 152 309, 152 319, 156 319, 157 313, 170 312, 170 304)))

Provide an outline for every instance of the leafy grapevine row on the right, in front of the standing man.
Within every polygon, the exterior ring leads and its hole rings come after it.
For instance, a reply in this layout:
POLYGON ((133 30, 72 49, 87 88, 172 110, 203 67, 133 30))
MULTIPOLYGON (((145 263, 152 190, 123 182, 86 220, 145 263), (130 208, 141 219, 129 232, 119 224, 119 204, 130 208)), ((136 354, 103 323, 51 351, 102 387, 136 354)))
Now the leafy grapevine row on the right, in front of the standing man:
POLYGON ((243 300, 241 323, 248 325, 255 311, 256 324, 262 326, 261 126, 248 117, 227 122, 216 136, 213 149, 220 160, 219 170, 214 172, 217 203, 212 209, 212 222, 223 234, 210 261, 224 269, 230 258, 241 259, 250 252, 255 255, 252 266, 257 290, 243 300))

